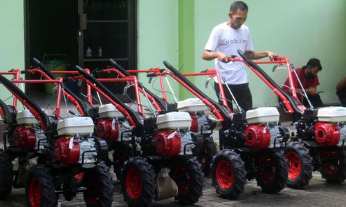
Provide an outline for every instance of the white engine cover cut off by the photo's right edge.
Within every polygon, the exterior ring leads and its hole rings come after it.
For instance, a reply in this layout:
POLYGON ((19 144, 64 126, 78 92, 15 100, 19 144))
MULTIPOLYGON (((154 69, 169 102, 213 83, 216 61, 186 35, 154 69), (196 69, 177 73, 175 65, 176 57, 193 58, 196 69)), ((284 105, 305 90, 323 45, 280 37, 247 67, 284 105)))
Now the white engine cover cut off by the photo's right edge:
POLYGON ((331 106, 319 108, 317 112, 318 121, 342 122, 346 121, 346 107, 331 106))

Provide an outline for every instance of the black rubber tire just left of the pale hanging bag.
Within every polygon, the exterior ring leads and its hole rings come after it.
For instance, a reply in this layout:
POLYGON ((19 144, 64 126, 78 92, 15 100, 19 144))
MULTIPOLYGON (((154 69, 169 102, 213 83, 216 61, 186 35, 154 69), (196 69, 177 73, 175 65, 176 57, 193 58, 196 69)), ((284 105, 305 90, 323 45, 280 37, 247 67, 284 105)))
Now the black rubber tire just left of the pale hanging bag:
MULTIPOLYGON (((155 197, 156 182, 155 182, 155 172, 151 164, 149 164, 143 157, 130 157, 122 168, 121 177, 121 189, 124 195, 124 199, 129 206, 149 206, 155 197), (136 170, 139 173, 139 177, 130 177, 131 170, 136 170), (132 195, 128 191, 129 186, 127 186, 127 181, 129 179, 134 179, 134 182, 141 186, 140 193, 138 196, 132 195)), ((133 174, 132 174, 133 175, 133 174)), ((131 190, 131 189, 129 189, 131 190)))

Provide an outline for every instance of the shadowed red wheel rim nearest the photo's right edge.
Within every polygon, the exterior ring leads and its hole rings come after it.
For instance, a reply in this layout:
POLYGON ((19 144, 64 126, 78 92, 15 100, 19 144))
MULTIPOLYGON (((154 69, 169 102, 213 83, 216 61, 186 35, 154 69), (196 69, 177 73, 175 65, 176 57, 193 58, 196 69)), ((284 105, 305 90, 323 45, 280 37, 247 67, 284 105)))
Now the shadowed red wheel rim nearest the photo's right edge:
POLYGON ((329 175, 336 174, 340 168, 340 155, 337 150, 322 153, 322 168, 329 175))

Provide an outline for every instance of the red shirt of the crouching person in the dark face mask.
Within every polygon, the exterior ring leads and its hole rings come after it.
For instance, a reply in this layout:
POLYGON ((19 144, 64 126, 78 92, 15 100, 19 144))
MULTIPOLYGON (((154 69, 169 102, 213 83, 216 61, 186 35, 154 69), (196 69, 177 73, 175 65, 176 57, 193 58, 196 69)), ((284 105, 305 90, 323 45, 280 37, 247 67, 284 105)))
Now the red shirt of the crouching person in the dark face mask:
MULTIPOLYGON (((320 85, 320 82, 318 81, 317 75, 315 77, 307 79, 303 75, 302 68, 295 69, 295 72, 297 72, 297 75, 298 75, 300 82, 302 83, 302 86, 304 87, 304 89, 316 87, 316 86, 320 85)), ((295 88, 302 88, 302 87, 300 87, 300 83, 298 82, 297 77, 295 76, 293 71, 291 72, 291 75, 292 75, 292 79, 293 79, 293 86, 295 88)), ((282 86, 282 90, 289 92, 289 88, 286 86, 289 86, 289 78, 287 78, 286 81, 284 81, 284 86, 282 86)))

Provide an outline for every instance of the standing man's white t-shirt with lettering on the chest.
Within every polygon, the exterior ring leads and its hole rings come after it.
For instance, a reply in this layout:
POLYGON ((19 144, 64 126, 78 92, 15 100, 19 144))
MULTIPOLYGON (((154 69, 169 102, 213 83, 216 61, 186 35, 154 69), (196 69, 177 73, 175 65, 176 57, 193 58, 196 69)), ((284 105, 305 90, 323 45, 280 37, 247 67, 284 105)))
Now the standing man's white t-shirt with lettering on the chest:
MULTIPOLYGON (((228 26, 227 22, 224 22, 212 29, 204 49, 223 52, 229 57, 232 55, 239 57, 237 50, 240 49, 243 52, 252 51, 253 41, 251 41, 248 27, 244 24, 241 28, 235 30, 228 26)), ((237 85, 248 83, 248 77, 246 70, 244 70, 244 63, 242 62, 224 63, 215 58, 215 68, 219 70, 221 77, 226 79, 227 84, 237 85)), ((215 79, 215 81, 217 80, 215 79)))

